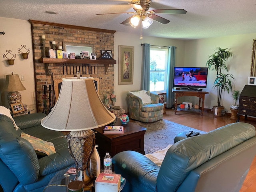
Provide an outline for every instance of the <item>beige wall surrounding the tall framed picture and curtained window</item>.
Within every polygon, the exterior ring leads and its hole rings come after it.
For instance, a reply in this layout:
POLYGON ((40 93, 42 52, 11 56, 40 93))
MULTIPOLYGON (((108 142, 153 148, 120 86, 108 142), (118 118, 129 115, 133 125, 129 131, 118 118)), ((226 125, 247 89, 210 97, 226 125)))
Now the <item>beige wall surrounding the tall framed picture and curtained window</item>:
MULTIPOLYGON (((127 26, 129 27, 129 26, 127 26)), ((132 85, 118 85, 118 54, 115 54, 115 60, 117 65, 115 66, 115 94, 116 104, 125 109, 128 112, 126 105, 126 93, 132 90, 140 90, 140 77, 142 67, 142 46, 140 44, 149 43, 152 45, 161 46, 176 46, 176 63, 183 65, 184 63, 184 49, 185 42, 181 40, 173 40, 166 38, 155 38, 144 36, 140 40, 139 35, 126 34, 116 32, 114 34, 114 51, 118 53, 119 45, 134 46, 134 79, 132 85)))

